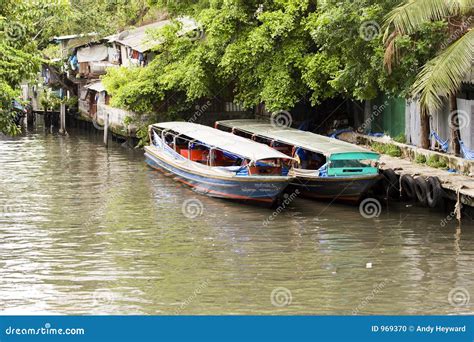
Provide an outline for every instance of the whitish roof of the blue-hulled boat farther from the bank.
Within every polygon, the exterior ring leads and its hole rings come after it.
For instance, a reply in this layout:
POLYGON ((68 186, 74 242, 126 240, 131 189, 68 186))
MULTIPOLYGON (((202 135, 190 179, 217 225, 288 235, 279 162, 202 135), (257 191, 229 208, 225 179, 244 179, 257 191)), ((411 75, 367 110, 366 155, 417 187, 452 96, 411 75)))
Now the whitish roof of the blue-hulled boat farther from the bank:
POLYGON ((293 159, 265 144, 260 144, 209 126, 191 122, 174 121, 156 123, 153 124, 152 127, 172 130, 180 135, 186 135, 198 140, 211 148, 224 150, 252 161, 263 159, 293 159))

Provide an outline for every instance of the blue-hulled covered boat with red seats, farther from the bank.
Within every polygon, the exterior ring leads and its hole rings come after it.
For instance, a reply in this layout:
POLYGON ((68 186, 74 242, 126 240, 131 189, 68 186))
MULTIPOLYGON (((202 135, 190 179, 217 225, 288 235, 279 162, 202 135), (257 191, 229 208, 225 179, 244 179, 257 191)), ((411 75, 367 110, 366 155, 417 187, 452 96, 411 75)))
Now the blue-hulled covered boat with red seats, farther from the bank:
POLYGON ((292 179, 291 157, 211 127, 165 122, 149 135, 148 165, 201 194, 271 205, 292 179))

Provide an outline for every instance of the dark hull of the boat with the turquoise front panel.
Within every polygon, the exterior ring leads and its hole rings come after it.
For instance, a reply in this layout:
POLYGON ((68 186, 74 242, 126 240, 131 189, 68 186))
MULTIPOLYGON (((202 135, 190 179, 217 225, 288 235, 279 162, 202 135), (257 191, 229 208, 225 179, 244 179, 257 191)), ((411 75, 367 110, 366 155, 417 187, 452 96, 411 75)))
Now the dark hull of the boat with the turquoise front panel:
POLYGON ((363 177, 297 177, 289 189, 298 189, 303 197, 319 200, 358 202, 380 179, 363 177))

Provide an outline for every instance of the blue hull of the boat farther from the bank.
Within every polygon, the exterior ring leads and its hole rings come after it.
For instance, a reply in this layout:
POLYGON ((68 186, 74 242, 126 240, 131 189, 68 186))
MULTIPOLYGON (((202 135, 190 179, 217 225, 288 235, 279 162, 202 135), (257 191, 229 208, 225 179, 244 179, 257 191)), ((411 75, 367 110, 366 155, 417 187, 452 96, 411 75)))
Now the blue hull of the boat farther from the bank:
POLYGON ((146 149, 145 157, 150 167, 210 197, 273 205, 290 182, 289 177, 207 175, 187 169, 151 149, 146 149))

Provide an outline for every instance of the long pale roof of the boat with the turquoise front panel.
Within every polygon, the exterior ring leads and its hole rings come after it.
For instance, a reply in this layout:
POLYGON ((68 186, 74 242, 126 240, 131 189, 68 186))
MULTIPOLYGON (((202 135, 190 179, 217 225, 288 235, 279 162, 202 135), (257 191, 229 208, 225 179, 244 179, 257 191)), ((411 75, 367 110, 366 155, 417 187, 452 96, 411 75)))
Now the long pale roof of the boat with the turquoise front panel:
POLYGON ((280 143, 298 146, 308 151, 324 154, 325 156, 338 153, 364 153, 369 155, 373 154, 374 157, 378 156, 376 152, 345 141, 291 127, 276 127, 265 121, 223 120, 217 121, 216 124, 236 128, 246 133, 269 138, 280 143))

